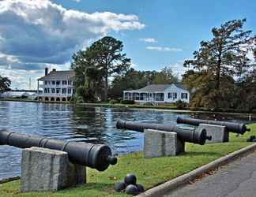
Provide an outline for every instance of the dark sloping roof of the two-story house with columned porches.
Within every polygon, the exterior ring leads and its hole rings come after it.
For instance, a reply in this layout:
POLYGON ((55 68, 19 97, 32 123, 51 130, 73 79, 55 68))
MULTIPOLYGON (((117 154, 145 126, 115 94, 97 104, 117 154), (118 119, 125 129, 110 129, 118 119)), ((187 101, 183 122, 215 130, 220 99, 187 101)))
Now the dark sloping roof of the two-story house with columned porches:
POLYGON ((74 76, 75 72, 73 70, 51 71, 47 76, 43 76, 38 80, 64 80, 74 76))

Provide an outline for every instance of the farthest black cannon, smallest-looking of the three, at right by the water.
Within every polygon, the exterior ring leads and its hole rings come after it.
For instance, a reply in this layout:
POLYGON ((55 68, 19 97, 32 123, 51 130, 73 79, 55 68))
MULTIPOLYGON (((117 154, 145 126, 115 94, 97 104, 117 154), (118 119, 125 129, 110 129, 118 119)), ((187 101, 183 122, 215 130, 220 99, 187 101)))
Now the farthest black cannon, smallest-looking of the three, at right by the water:
POLYGON ((195 126, 198 126, 199 124, 221 125, 226 127, 226 131, 228 132, 235 132, 242 135, 243 133, 250 131, 250 128, 247 128, 247 126, 244 125, 243 123, 235 123, 235 122, 227 122, 227 121, 208 121, 208 120, 201 120, 201 119, 195 119, 190 117, 178 117, 177 123, 183 123, 183 124, 195 125, 195 126))

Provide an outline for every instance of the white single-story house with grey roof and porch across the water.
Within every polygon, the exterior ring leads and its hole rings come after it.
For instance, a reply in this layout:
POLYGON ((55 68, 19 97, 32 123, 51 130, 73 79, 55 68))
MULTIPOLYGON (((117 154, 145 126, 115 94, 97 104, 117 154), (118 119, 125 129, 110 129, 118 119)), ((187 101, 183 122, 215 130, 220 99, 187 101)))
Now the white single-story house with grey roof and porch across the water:
POLYGON ((180 84, 152 84, 138 90, 123 91, 123 99, 135 102, 190 102, 190 92, 180 84))

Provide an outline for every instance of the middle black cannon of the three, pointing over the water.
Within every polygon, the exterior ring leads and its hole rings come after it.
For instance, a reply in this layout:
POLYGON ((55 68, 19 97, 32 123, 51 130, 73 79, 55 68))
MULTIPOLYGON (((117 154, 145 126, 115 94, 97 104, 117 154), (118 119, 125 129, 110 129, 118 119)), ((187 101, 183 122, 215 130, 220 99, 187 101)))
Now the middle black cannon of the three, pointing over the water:
POLYGON ((206 139, 212 139, 211 136, 207 136, 205 129, 197 130, 195 128, 179 128, 175 125, 161 125, 119 120, 116 123, 116 128, 130 129, 137 132, 144 132, 144 129, 176 132, 180 140, 184 142, 198 143, 201 145, 205 144, 206 139))

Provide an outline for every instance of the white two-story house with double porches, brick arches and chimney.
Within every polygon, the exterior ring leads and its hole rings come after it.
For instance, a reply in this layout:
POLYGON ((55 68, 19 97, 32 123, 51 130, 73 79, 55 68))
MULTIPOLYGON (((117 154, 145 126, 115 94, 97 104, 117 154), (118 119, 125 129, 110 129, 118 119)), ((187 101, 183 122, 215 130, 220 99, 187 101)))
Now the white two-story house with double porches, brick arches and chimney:
POLYGON ((70 101, 75 92, 75 72, 73 70, 57 71, 52 69, 37 81, 37 94, 40 101, 70 101), (42 92, 40 93, 40 89, 42 92))

